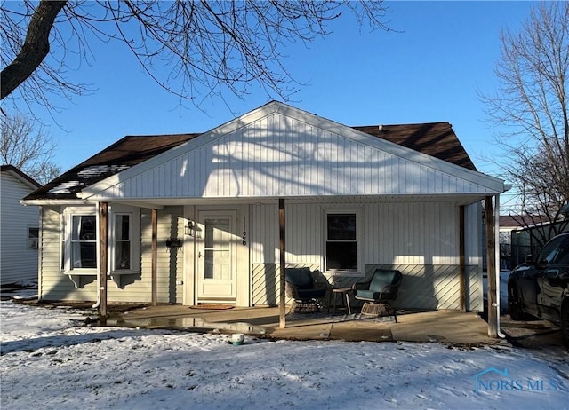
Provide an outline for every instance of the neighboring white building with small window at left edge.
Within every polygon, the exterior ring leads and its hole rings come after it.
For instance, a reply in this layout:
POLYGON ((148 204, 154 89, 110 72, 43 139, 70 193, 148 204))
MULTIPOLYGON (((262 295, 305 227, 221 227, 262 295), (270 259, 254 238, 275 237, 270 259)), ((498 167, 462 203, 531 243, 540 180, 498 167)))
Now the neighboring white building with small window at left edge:
POLYGON ((41 185, 12 165, 2 165, 0 180, 0 281, 2 285, 37 280, 39 209, 20 200, 41 185))

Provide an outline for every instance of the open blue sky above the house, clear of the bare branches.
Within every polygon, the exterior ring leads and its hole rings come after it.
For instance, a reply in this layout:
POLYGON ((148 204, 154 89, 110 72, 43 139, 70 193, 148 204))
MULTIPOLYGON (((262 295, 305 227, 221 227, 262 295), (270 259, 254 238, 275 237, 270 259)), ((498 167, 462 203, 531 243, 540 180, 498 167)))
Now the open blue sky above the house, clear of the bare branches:
MULTIPOLYGON (((481 161, 492 153, 493 132, 477 91, 496 88, 493 67, 500 57, 501 28, 516 31, 530 2, 389 2, 389 27, 358 27, 348 15, 334 21, 332 35, 309 49, 287 45, 284 65, 307 83, 289 104, 346 125, 442 122, 453 124, 478 170, 495 174, 481 161)), ((210 130, 265 104, 265 91, 244 99, 228 96, 204 103, 204 112, 156 85, 124 45, 92 43, 91 67, 70 71, 91 83, 92 95, 62 102, 48 126, 58 149, 55 162, 68 170, 125 135, 210 130), (230 108, 230 109, 229 109, 230 108)), ((165 77, 165 75, 164 75, 165 77)))

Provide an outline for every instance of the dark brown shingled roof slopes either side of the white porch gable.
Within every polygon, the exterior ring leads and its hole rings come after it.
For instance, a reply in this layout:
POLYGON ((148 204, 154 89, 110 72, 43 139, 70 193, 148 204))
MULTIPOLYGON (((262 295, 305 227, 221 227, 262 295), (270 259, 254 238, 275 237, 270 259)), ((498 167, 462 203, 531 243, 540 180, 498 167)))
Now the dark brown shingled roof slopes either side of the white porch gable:
MULTIPOLYGON (((477 170, 449 122, 352 128, 469 170, 477 170)), ((77 199, 76 193, 81 192, 85 186, 131 168, 199 135, 201 134, 124 137, 34 193, 30 193, 24 200, 77 199)))

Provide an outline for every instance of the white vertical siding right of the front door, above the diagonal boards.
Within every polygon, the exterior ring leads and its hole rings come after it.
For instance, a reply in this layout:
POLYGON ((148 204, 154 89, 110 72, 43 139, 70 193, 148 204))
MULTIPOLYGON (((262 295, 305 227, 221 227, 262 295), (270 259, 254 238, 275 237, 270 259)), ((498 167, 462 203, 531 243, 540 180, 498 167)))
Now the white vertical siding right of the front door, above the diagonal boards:
MULTIPOLYGON (((365 221, 364 264, 458 264, 459 207, 454 202, 385 202, 358 205, 365 221)), ((253 207, 253 263, 278 262, 277 205, 253 207)), ((319 263, 324 247, 323 204, 287 203, 286 260, 319 263)), ((338 209, 345 209, 338 208, 338 209)), ((475 252, 474 244, 470 246, 475 252)), ((472 263, 472 262, 470 262, 472 263)))

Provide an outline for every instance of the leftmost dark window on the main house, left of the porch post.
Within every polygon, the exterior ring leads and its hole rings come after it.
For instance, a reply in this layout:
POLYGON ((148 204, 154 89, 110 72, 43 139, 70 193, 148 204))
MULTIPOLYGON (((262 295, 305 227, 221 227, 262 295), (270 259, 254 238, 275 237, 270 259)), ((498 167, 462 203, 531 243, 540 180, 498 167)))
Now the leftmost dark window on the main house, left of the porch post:
POLYGON ((97 220, 94 215, 71 216, 71 269, 97 267, 97 220))

